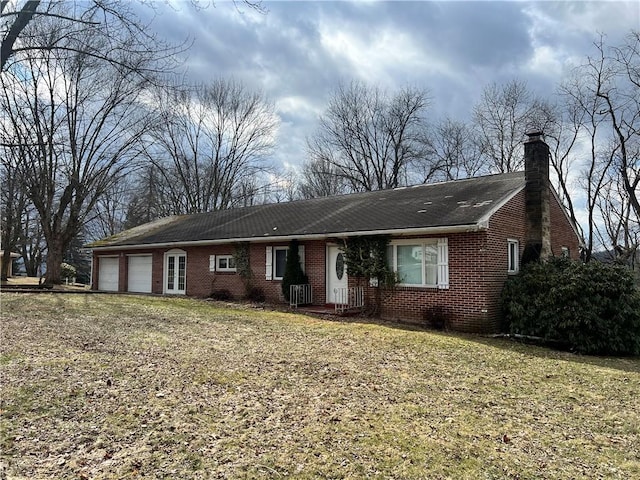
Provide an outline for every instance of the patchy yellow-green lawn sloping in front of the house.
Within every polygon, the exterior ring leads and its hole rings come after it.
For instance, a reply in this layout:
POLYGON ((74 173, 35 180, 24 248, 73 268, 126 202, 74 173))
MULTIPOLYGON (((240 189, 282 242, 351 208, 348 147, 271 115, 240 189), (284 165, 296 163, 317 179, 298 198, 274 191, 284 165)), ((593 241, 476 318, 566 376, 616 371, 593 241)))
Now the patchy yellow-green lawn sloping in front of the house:
POLYGON ((638 358, 190 299, 0 299, 9 478, 640 478, 638 358))

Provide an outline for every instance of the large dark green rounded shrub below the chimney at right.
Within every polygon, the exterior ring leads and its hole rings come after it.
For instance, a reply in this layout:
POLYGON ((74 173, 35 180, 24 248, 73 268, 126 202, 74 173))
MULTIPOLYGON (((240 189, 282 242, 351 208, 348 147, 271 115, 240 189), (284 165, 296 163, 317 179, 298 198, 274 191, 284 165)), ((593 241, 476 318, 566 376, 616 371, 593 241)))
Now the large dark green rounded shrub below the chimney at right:
POLYGON ((506 283, 502 305, 511 333, 578 353, 640 354, 640 293, 626 267, 567 259, 530 263, 506 283))

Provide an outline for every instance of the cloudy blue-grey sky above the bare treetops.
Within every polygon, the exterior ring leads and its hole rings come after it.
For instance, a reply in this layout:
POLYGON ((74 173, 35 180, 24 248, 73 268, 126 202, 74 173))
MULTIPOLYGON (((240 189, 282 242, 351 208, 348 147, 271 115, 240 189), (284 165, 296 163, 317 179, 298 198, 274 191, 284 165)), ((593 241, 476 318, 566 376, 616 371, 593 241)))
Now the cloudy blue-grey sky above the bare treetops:
POLYGON ((193 40, 187 81, 233 77, 261 90, 280 117, 273 161, 283 166, 306 159, 306 137, 341 81, 426 88, 433 118, 465 120, 487 84, 518 78, 551 96, 600 34, 619 44, 640 28, 638 1, 266 1, 265 14, 240 1, 169 2, 156 4, 153 28, 193 40))

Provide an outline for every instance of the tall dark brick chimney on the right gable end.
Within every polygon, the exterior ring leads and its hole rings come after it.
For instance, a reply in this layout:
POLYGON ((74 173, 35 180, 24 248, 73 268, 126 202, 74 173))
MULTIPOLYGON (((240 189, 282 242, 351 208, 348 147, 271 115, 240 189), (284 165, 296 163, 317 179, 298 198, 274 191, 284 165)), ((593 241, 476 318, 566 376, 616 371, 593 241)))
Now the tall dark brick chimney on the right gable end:
POLYGON ((524 144, 527 231, 523 264, 551 256, 549 146, 542 132, 527 133, 527 136, 524 144))

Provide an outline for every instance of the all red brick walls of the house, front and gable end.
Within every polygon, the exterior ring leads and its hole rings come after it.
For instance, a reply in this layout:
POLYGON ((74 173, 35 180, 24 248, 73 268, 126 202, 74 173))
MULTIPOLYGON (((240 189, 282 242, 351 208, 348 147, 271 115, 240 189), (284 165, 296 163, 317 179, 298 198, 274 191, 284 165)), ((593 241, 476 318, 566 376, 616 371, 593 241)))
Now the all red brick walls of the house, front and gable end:
MULTIPOLYGON (((579 256, 579 242, 574 230, 551 195, 551 243, 554 255, 561 247, 569 247, 572 258, 579 256)), ((525 246, 524 192, 516 195, 490 219, 489 230, 446 235, 449 242, 449 288, 397 287, 383 296, 381 315, 384 318, 413 323, 428 323, 441 312, 449 328, 459 331, 496 331, 501 321, 500 292, 507 279, 507 239, 520 242, 520 254, 525 246)), ((442 237, 439 235, 436 237, 442 237)), ((434 238, 436 238, 434 237, 434 238)), ((425 238, 425 237, 420 237, 425 238)), ((427 237, 428 238, 428 237, 427 237)), ((287 246, 281 243, 254 243, 249 255, 252 270, 251 285, 262 289, 271 303, 283 302, 281 281, 266 280, 266 247, 287 246)), ((313 289, 314 304, 326 302, 326 242, 301 242, 305 246, 305 270, 313 289)), ((120 255, 120 290, 127 289, 127 254, 153 254, 153 293, 163 292, 164 254, 169 249, 124 250, 120 255)), ((245 295, 245 284, 237 273, 210 272, 210 255, 232 255, 233 244, 186 247, 187 295, 208 297, 217 290, 228 290, 235 298, 245 295)), ((99 254, 94 252, 93 285, 97 288, 99 254)), ((354 285, 356 279, 350 279, 354 285)), ((368 300, 375 298, 375 289, 367 288, 368 300)))

